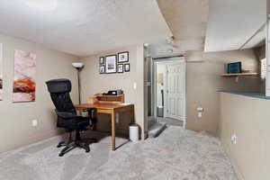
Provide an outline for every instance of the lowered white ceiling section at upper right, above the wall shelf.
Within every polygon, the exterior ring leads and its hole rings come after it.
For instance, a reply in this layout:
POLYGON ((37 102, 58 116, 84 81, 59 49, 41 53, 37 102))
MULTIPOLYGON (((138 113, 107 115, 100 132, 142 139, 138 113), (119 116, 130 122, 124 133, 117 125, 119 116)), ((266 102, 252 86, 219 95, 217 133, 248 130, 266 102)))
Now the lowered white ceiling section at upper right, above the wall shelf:
MULTIPOLYGON (((210 0, 205 51, 239 49, 266 23, 266 0, 210 0)), ((266 38, 257 34, 245 48, 266 38)))

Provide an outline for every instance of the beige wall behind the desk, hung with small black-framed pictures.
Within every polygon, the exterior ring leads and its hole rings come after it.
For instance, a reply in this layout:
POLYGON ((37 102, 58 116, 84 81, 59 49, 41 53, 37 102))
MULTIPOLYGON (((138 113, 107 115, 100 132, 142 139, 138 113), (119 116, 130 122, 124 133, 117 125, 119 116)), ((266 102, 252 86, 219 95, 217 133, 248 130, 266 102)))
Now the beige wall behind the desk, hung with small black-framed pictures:
MULTIPOLYGON (((101 52, 89 57, 81 59, 85 63, 84 69, 81 71, 81 88, 82 102, 86 103, 87 98, 94 94, 108 92, 113 89, 122 89, 125 94, 125 103, 135 104, 135 122, 139 124, 141 138, 145 137, 145 103, 144 103, 144 49, 143 45, 134 45, 121 49, 101 52), (122 51, 130 52, 130 72, 100 74, 99 58, 108 55, 117 55, 122 51), (133 88, 133 84, 137 84, 137 89, 133 88)), ((110 131, 111 120, 106 114, 98 114, 97 130, 110 131)), ((121 112, 119 122, 116 123, 116 131, 118 133, 127 133, 130 121, 129 113, 121 112)))

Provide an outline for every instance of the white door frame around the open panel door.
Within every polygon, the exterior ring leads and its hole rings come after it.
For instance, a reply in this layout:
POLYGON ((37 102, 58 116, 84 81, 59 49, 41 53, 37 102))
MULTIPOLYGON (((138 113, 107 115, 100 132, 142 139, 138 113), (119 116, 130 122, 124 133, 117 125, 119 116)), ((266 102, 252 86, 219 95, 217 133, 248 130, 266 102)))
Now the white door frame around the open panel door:
MULTIPOLYGON (((154 116, 155 118, 157 118, 157 63, 158 62, 168 62, 169 64, 175 64, 177 62, 180 63, 184 63, 184 117, 183 117, 183 127, 184 129, 186 128, 186 61, 184 59, 184 57, 179 57, 179 58, 158 58, 158 59, 153 59, 153 71, 152 71, 152 85, 153 85, 153 89, 154 89, 154 116)), ((166 82, 167 82, 167 75, 165 76, 166 78, 166 82)), ((164 84, 165 88, 167 90, 167 83, 164 84)), ((167 94, 164 95, 164 106, 166 107, 166 101, 167 101, 167 94)), ((164 116, 166 116, 166 111, 164 111, 164 116)))

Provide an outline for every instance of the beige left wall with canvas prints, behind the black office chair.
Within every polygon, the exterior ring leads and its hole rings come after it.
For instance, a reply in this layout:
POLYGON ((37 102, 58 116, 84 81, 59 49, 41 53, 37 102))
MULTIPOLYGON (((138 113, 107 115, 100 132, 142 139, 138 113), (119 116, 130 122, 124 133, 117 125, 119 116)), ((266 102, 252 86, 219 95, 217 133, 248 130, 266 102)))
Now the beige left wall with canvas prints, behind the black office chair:
POLYGON ((68 78, 77 98, 76 69, 71 63, 77 58, 39 44, 0 34, 3 43, 3 101, 0 101, 0 152, 19 148, 59 133, 56 127, 54 105, 50 100, 45 82, 53 78, 68 78), (31 51, 37 55, 36 101, 13 103, 14 49, 31 51), (31 121, 38 126, 32 127, 31 121))

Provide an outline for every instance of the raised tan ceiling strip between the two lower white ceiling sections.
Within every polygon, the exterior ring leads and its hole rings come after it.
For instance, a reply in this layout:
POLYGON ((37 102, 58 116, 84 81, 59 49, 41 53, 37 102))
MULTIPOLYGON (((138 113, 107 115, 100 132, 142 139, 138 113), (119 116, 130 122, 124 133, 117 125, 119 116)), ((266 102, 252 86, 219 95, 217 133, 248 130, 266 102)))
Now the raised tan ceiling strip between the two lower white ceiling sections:
POLYGON ((208 22, 208 0, 157 0, 157 3, 175 36, 175 42, 173 48, 165 42, 155 46, 152 54, 158 57, 203 50, 208 22), (171 49, 174 51, 169 52, 171 49))

